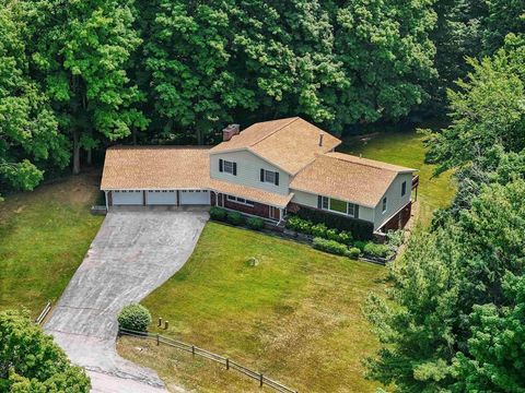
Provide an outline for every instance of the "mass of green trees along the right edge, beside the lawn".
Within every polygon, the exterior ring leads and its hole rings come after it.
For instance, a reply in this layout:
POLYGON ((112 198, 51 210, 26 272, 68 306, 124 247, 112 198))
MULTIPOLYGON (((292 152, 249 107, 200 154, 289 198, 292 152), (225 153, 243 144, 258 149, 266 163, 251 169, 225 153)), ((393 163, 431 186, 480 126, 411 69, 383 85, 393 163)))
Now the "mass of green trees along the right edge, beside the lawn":
POLYGON ((501 47, 468 59, 450 126, 425 131, 457 194, 390 266, 388 296, 366 303, 382 343, 368 377, 388 391, 525 392, 525 3, 497 15, 521 27, 482 37, 501 47))

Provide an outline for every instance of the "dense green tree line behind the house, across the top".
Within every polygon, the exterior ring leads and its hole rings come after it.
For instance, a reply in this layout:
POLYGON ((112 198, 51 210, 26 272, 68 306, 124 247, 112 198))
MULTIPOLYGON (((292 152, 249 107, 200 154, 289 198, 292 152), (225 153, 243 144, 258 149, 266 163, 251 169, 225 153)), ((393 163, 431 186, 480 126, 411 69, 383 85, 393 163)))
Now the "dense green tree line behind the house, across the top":
POLYGON ((335 133, 439 114, 520 31, 506 0, 0 0, 0 189, 113 143, 214 142, 302 116, 335 133))

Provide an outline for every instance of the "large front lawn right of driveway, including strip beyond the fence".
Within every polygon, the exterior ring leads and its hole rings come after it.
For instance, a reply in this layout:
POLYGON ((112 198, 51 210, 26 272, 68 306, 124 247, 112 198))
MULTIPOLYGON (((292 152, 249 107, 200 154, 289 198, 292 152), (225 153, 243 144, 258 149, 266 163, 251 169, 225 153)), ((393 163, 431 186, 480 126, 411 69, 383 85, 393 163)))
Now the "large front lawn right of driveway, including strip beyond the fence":
MULTIPOLYGON (((301 392, 373 392, 361 359, 377 347, 362 314, 383 291, 382 266, 267 235, 209 223, 168 282, 143 300, 151 331, 228 356, 301 392), (248 260, 256 258, 258 265, 248 260)), ((122 337, 125 357, 154 368, 167 386, 198 392, 258 392, 256 381, 218 364, 122 337)))

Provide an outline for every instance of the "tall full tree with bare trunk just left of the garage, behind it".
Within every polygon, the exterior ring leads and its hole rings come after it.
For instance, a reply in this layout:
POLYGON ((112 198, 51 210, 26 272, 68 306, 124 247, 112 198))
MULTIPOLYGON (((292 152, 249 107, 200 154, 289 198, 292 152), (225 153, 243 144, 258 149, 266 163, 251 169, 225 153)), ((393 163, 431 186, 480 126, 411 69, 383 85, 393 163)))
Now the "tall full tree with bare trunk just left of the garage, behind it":
POLYGON ((128 136, 148 120, 135 108, 143 94, 126 72, 140 44, 132 0, 27 0, 32 66, 73 146, 90 156, 102 141, 128 136))

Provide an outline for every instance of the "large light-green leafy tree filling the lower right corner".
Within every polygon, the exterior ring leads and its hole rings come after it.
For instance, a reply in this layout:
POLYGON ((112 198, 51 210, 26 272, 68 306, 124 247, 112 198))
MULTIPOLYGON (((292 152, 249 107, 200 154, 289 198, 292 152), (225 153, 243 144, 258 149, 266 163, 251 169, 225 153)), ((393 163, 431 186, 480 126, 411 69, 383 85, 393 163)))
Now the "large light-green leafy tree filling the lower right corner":
MULTIPOLYGON (((477 355, 476 340, 490 326, 477 324, 487 310, 509 315, 509 277, 524 276, 524 193, 523 179, 486 186, 458 222, 410 241, 404 260, 390 267, 389 301, 369 299, 366 314, 382 343, 368 360, 370 378, 399 392, 467 392, 468 379, 487 377, 474 365, 486 356, 477 355)), ((521 329, 509 325, 501 334, 512 338, 521 329)), ((509 377, 523 372, 525 365, 515 362, 509 377)))

